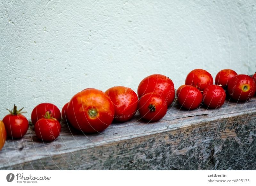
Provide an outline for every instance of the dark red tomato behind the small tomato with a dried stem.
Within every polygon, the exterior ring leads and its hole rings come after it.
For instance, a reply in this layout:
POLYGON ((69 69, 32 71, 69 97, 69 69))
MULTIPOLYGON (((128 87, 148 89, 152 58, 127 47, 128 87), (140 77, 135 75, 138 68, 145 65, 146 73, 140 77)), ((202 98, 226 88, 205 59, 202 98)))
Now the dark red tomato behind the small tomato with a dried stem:
POLYGON ((44 118, 45 113, 48 111, 50 111, 53 118, 57 119, 58 121, 61 120, 60 109, 58 109, 57 106, 53 105, 52 103, 41 103, 37 105, 31 113, 32 123, 35 124, 37 120, 44 118))

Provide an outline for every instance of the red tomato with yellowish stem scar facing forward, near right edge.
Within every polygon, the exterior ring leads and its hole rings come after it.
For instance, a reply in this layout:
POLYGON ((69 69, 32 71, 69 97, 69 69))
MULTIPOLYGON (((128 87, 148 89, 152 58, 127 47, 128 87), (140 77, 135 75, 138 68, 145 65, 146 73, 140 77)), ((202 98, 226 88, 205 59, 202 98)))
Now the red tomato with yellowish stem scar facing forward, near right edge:
POLYGON ((236 75, 228 83, 228 93, 236 101, 248 102, 255 91, 255 82, 249 75, 236 75))

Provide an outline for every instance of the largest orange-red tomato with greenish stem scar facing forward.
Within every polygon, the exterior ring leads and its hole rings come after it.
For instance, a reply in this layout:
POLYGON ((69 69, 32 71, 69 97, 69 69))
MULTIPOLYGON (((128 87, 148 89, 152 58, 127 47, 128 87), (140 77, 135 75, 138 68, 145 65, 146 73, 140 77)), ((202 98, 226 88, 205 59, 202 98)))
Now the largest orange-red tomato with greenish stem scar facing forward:
POLYGON ((101 132, 113 121, 115 109, 110 98, 97 89, 85 89, 68 103, 68 121, 85 133, 101 132))

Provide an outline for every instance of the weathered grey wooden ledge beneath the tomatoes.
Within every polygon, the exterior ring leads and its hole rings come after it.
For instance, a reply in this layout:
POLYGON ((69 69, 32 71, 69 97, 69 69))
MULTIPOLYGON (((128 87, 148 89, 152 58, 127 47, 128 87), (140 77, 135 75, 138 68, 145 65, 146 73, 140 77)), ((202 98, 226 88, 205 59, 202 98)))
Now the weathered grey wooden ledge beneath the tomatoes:
POLYGON ((102 134, 84 135, 61 123, 53 143, 30 125, 0 151, 1 170, 255 170, 256 98, 226 101, 217 110, 185 111, 172 104, 159 122, 139 114, 102 134))

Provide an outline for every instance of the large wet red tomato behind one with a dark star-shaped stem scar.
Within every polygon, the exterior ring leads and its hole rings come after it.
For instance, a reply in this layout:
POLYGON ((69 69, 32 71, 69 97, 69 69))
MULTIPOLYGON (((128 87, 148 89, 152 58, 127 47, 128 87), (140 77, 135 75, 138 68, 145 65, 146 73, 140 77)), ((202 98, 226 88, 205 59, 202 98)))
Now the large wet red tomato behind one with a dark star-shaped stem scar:
POLYGON ((138 86, 138 96, 142 97, 149 92, 156 92, 164 97, 164 103, 171 105, 175 97, 175 89, 172 80, 161 74, 153 74, 145 77, 138 86))

